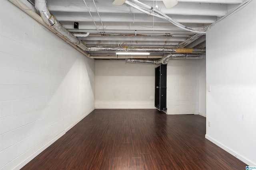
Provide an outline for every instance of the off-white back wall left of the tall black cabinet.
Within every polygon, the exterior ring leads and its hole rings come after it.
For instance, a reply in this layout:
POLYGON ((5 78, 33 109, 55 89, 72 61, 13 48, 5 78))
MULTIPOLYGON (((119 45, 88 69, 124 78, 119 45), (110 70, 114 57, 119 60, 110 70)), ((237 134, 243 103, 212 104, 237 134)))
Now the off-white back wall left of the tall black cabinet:
POLYGON ((155 108, 155 67, 126 61, 95 61, 96 108, 155 108))

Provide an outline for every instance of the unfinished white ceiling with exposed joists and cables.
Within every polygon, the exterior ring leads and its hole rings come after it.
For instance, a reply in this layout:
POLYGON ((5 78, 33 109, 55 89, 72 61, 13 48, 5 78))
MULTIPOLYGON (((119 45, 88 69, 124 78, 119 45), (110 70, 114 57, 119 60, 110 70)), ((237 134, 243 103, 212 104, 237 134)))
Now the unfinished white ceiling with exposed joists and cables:
MULTIPOLYGON (((74 33, 87 46, 97 47, 152 47, 152 48, 205 48, 205 35, 212 23, 236 10, 244 0, 178 0, 178 4, 166 9, 162 0, 140 0, 151 9, 127 0, 121 6, 114 0, 47 0, 50 13, 68 31, 74 33), (132 4, 151 11, 145 14, 132 4), (157 6, 158 8, 157 8, 157 6), (177 21, 184 30, 169 20, 152 16, 159 10, 170 20, 177 21), (74 28, 78 22, 78 29, 74 28)), ((114 51, 87 51, 94 57, 116 57, 114 51)), ((163 52, 151 52, 149 56, 160 58, 163 52)), ((151 57, 151 58, 152 58, 151 57)))

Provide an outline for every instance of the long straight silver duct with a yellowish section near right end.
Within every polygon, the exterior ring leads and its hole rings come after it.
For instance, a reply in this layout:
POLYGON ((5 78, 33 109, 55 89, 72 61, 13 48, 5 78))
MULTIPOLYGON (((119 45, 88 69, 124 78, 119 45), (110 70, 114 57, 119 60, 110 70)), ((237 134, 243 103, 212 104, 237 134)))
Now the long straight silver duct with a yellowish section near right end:
POLYGON ((128 52, 159 52, 159 53, 205 53, 206 49, 168 48, 168 47, 100 47, 88 46, 88 51, 128 51, 128 52))

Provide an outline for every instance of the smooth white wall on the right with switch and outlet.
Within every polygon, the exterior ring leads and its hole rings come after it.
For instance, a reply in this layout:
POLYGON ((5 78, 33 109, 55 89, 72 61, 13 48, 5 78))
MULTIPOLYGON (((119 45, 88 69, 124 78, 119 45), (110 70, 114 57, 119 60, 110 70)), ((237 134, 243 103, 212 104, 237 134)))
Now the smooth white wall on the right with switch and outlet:
POLYGON ((207 31, 206 138, 256 165, 256 1, 207 31))

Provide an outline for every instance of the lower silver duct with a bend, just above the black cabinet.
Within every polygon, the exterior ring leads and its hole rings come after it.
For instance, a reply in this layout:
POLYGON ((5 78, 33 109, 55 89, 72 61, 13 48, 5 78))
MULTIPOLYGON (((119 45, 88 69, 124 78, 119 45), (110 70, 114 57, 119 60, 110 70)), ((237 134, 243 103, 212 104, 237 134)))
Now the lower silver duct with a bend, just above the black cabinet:
POLYGON ((166 54, 162 59, 126 59, 127 63, 137 64, 167 64, 170 59, 204 59, 205 54, 166 54))

